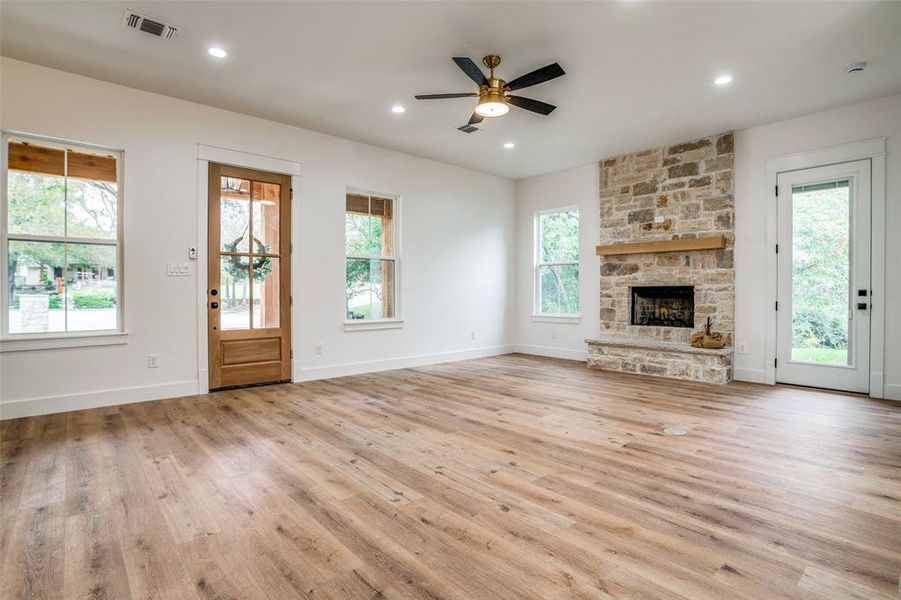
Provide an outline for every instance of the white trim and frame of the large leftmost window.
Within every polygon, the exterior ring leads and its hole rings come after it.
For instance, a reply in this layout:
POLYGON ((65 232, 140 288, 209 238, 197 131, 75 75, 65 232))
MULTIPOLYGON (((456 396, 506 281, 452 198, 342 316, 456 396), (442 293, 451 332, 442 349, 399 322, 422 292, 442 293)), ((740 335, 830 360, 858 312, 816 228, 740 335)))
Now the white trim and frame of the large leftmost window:
POLYGON ((8 172, 9 141, 25 139, 42 145, 62 149, 84 149, 116 154, 116 237, 110 240, 60 236, 38 236, 17 234, 16 240, 81 242, 116 247, 116 329, 92 329, 88 331, 48 331, 46 333, 9 332, 9 286, 4 269, 3 285, 0 286, 0 352, 19 350, 43 350, 53 348, 77 348, 128 343, 125 323, 125 150, 89 144, 63 138, 52 138, 9 129, 0 130, 0 265, 7 264, 10 240, 8 231, 8 172))

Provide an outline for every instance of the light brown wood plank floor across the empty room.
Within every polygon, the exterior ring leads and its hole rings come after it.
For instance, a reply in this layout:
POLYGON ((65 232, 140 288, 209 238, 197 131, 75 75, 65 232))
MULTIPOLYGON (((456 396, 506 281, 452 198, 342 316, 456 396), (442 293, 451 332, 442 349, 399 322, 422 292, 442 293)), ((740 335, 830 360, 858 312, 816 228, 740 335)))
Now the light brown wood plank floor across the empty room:
POLYGON ((2 440, 3 598, 899 595, 901 404, 859 396, 509 355, 2 440))

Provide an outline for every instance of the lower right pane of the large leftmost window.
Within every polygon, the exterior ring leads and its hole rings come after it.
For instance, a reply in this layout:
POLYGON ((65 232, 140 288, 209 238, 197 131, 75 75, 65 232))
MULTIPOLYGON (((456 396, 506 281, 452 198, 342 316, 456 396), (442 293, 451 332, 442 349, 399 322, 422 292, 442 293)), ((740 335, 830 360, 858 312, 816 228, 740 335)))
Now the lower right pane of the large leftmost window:
POLYGON ((116 329, 116 247, 68 244, 66 262, 67 329, 116 329))

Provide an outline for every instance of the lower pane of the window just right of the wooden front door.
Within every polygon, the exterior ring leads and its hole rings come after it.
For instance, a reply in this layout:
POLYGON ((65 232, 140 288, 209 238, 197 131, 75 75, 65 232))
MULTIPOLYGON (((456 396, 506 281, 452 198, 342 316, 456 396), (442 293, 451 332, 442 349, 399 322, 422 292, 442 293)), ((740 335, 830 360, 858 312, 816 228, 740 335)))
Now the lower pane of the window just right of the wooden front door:
POLYGON ((347 319, 394 318, 394 261, 348 258, 347 319))

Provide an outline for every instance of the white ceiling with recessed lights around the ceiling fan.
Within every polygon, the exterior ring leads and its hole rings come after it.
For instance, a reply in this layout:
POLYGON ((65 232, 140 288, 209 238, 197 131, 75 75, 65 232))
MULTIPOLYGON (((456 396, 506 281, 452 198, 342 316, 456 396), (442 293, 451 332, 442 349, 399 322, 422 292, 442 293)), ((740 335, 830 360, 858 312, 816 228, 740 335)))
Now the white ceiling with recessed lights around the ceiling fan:
POLYGON ((12 58, 512 178, 901 92, 891 1, 3 0, 0 40, 12 58), (127 30, 126 8, 178 38, 127 30), (475 91, 451 57, 488 53, 508 81, 559 62, 564 77, 519 92, 559 108, 465 134, 473 99, 413 99, 475 91), (856 61, 869 68, 846 75, 856 61), (720 72, 735 81, 714 86, 720 72))

